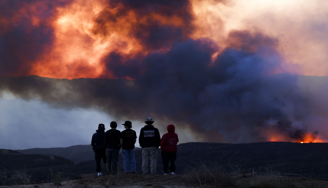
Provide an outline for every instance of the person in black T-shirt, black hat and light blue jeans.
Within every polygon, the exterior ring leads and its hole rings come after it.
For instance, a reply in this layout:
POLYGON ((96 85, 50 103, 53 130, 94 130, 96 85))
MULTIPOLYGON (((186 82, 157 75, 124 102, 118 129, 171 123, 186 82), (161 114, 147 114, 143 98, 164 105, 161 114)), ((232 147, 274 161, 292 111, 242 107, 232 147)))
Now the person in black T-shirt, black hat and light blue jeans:
POLYGON ((125 130, 121 132, 122 157, 125 174, 136 174, 134 144, 137 141, 137 134, 132 130, 131 121, 125 121, 125 130), (131 171, 130 171, 131 170, 131 171))

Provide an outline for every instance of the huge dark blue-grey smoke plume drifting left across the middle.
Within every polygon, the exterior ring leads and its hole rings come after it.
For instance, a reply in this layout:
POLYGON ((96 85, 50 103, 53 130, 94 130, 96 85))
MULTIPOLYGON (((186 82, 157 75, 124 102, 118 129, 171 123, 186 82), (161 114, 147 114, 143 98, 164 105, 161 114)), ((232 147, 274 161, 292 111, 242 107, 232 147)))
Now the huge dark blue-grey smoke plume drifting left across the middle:
POLYGON ((212 62, 218 46, 209 39, 189 39, 142 59, 124 61, 111 53, 107 68, 122 79, 2 77, 0 89, 21 98, 39 97, 54 107, 96 108, 135 120, 151 114, 190 126, 199 135, 211 133, 205 141, 218 141, 221 135, 232 143, 266 141, 263 129, 301 139, 309 107, 297 77, 270 74, 282 61, 275 40, 270 44, 260 34, 249 36, 250 43, 265 45, 255 51, 227 48, 212 62))

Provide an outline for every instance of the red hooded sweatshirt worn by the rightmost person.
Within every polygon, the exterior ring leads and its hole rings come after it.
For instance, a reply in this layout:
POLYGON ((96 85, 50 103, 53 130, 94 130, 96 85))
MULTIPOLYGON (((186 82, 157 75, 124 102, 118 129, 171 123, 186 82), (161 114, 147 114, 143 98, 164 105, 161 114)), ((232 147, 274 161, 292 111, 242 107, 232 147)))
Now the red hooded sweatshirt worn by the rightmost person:
POLYGON ((178 148, 176 147, 176 143, 179 142, 178 135, 174 132, 174 125, 167 126, 167 132, 162 136, 161 139, 161 150, 166 152, 176 152, 178 148))

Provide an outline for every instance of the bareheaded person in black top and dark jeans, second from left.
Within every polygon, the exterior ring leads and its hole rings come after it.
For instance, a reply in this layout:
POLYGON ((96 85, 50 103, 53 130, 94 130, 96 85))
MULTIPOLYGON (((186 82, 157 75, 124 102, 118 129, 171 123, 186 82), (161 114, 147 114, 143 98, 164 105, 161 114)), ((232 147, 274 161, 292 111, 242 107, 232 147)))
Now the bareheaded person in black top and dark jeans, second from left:
POLYGON ((104 146, 106 148, 107 158, 107 172, 106 174, 115 175, 117 173, 117 161, 118 153, 121 149, 120 134, 121 131, 116 130, 117 123, 112 121, 110 124, 112 129, 109 129, 105 133, 104 146))

